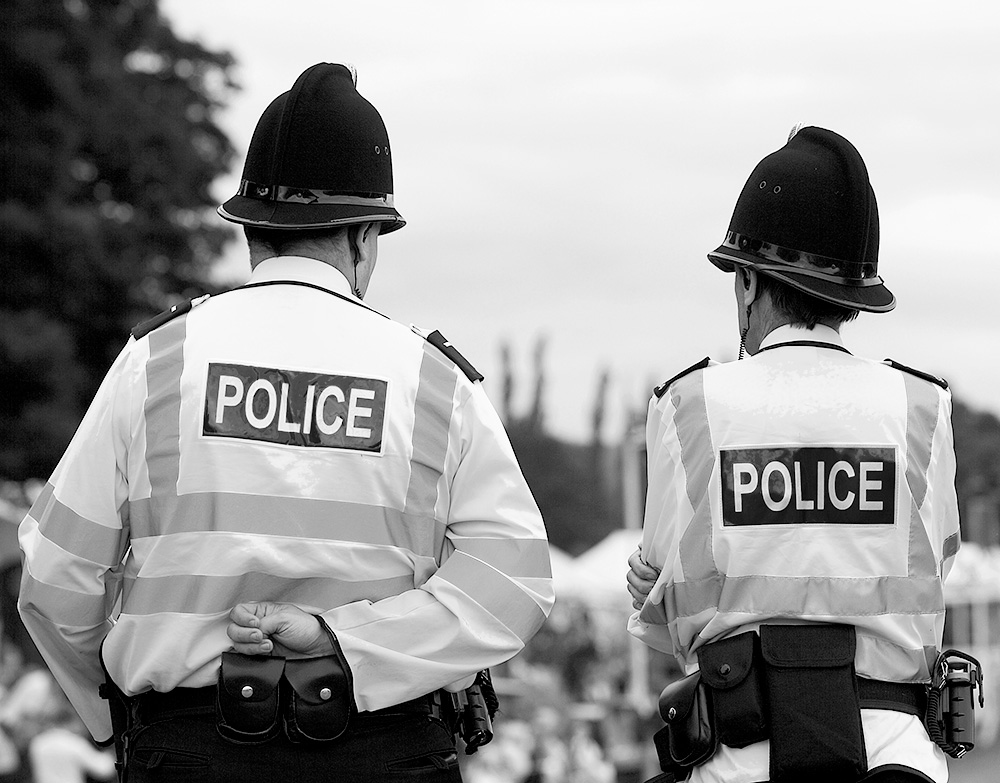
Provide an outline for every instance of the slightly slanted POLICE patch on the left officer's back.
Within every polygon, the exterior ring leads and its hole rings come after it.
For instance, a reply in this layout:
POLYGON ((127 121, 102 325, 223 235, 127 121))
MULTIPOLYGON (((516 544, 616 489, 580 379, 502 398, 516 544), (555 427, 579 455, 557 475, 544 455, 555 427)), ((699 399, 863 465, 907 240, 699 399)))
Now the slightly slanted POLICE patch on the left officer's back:
POLYGON ((388 384, 242 364, 208 365, 203 432, 222 438, 381 452, 388 384))

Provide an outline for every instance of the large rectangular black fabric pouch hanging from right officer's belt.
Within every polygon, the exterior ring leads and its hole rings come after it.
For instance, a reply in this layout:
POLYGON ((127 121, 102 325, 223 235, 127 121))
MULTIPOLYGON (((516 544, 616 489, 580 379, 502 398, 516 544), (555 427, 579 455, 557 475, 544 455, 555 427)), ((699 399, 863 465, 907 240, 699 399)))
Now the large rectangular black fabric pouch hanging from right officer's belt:
POLYGON ((850 625, 763 625, 772 783, 845 783, 868 769, 850 625))

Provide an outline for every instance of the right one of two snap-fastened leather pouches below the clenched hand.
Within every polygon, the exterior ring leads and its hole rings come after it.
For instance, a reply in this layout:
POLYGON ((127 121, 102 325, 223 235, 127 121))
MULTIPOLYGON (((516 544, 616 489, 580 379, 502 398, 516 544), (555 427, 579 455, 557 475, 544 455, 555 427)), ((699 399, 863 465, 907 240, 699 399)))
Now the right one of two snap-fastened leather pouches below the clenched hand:
POLYGON ((285 663, 291 686, 285 734, 292 742, 329 742, 347 729, 354 704, 348 671, 337 655, 285 663))

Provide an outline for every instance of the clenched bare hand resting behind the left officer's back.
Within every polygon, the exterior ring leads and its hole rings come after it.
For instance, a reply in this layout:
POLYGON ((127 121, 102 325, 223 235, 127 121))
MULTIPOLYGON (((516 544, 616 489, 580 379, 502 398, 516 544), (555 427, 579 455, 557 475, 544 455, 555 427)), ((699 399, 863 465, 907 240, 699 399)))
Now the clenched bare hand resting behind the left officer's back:
POLYGON ((233 641, 233 649, 244 655, 303 658, 334 651, 320 620, 294 604, 238 604, 229 613, 229 620, 226 633, 233 641))

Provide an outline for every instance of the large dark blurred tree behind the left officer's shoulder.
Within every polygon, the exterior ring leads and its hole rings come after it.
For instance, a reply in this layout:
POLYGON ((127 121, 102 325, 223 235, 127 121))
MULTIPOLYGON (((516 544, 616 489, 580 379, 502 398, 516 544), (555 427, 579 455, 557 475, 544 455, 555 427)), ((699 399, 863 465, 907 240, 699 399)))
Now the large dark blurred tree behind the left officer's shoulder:
POLYGON ((212 290, 232 57, 156 0, 3 0, 0 475, 47 476, 130 327, 212 290))

